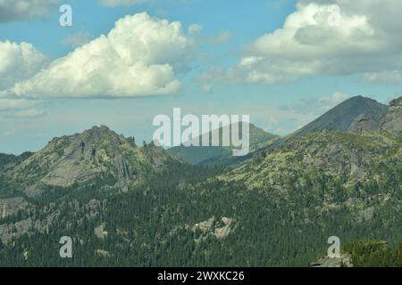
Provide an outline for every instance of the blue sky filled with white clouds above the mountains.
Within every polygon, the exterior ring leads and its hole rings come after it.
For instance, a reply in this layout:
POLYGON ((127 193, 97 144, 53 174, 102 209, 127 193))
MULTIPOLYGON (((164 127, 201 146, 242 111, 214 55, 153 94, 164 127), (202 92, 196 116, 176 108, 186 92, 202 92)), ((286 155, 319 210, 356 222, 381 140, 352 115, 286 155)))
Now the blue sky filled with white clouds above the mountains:
POLYGON ((400 14, 399 0, 0 0, 0 152, 100 125, 150 142, 175 107, 282 135, 351 96, 388 103, 400 14))

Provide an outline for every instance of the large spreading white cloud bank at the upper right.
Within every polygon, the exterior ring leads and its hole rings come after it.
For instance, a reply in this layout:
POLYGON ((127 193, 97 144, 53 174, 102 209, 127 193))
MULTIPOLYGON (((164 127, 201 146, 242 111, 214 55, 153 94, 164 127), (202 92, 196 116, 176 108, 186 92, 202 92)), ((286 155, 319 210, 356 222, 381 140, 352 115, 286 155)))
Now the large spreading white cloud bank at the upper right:
POLYGON ((402 69, 400 14, 399 0, 299 0, 283 27, 247 45, 236 66, 205 77, 275 85, 402 69))

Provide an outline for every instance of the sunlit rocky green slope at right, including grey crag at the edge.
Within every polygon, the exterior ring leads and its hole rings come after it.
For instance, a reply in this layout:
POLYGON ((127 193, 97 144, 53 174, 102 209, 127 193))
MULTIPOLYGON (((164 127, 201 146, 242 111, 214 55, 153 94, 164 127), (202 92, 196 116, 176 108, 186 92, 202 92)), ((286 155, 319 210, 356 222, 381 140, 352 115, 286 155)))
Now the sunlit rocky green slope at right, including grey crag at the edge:
POLYGON ((358 188, 359 183, 375 184, 375 191, 388 191, 385 186, 378 188, 389 178, 386 170, 395 172, 397 181, 402 180, 402 140, 398 133, 401 115, 402 108, 393 101, 382 118, 378 118, 379 121, 385 118, 388 131, 374 128, 372 132, 352 134, 324 129, 293 137, 218 178, 245 183, 250 189, 268 188, 284 194, 295 186, 311 191, 312 181, 321 183, 324 179, 331 182, 329 188, 319 190, 320 185, 315 185, 318 188, 313 191, 314 199, 329 201, 353 198, 356 194, 353 188, 358 188))

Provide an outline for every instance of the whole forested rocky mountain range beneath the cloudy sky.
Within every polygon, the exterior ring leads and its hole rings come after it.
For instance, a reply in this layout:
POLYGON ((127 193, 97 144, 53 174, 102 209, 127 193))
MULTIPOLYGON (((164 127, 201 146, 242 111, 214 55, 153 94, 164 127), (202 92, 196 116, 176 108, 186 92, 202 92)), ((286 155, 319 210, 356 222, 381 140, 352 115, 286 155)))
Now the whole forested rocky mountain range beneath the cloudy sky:
POLYGON ((402 97, 357 96, 285 137, 250 125, 241 160, 106 126, 0 155, 0 265, 308 266, 334 234, 396 247, 401 126, 402 97))

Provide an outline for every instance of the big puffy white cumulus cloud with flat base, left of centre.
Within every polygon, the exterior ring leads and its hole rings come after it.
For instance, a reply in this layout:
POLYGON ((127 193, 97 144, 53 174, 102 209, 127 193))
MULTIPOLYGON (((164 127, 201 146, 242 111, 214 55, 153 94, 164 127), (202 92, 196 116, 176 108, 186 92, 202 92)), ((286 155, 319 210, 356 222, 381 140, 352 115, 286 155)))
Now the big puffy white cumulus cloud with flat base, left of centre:
POLYGON ((116 98, 174 94, 188 70, 192 40, 180 22, 126 16, 102 35, 13 86, 17 96, 116 98))

